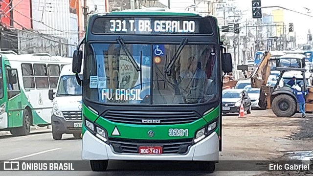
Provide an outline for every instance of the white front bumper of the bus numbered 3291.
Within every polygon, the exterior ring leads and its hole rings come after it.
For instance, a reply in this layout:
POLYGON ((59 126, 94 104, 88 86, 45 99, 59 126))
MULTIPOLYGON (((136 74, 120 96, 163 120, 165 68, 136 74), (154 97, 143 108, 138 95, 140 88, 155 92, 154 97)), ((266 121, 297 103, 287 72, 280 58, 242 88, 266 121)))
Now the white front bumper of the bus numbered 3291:
POLYGON ((82 140, 83 160, 173 160, 173 161, 218 161, 219 137, 213 132, 200 142, 192 145, 186 154, 117 154, 108 144, 104 143, 89 131, 82 140))

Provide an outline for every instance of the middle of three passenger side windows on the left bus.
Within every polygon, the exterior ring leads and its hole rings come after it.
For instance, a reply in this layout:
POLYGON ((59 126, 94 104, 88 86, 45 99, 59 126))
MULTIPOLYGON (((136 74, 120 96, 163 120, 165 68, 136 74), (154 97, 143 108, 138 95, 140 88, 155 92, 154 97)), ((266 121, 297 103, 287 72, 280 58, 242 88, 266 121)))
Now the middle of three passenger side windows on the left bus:
POLYGON ((36 88, 49 88, 47 66, 45 64, 34 64, 36 88))

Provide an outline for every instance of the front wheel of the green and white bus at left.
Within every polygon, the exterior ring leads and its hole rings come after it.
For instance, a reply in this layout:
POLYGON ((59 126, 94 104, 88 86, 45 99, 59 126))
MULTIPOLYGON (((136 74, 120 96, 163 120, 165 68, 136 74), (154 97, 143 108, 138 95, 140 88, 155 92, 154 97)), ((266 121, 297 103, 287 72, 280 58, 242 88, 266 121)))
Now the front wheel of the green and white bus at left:
POLYGON ((25 109, 23 110, 23 117, 22 117, 22 127, 14 128, 11 130, 13 136, 22 136, 22 135, 29 135, 30 133, 30 112, 25 109))

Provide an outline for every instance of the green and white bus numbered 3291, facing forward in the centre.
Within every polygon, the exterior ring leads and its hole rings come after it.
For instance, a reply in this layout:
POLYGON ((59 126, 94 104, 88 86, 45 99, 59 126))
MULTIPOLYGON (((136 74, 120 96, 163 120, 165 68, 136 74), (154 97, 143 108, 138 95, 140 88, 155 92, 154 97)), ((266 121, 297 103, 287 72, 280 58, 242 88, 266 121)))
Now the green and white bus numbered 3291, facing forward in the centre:
POLYGON ((82 159, 185 160, 214 171, 222 150, 222 78, 232 71, 213 16, 141 9, 89 17, 73 55, 84 62, 82 159), (79 50, 83 46, 83 51, 79 50))

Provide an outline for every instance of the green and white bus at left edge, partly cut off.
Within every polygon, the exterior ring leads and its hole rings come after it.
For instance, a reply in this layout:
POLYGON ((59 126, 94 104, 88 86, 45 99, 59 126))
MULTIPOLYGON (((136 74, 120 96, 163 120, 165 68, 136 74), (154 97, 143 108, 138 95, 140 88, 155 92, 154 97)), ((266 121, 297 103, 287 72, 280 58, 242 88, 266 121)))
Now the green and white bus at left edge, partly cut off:
POLYGON ((72 58, 47 53, 16 54, 0 52, 0 130, 28 135, 31 125, 51 124, 53 102, 49 89, 55 89, 60 70, 72 58))

